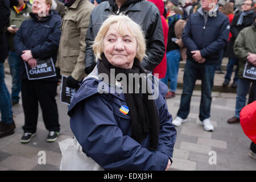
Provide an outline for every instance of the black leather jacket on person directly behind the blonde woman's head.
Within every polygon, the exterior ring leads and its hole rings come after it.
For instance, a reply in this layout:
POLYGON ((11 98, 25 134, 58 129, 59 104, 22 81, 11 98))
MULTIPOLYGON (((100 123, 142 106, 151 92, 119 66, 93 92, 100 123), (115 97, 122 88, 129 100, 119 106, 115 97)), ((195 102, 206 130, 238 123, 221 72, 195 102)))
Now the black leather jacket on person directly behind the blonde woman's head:
POLYGON ((102 22, 109 15, 119 13, 128 15, 142 26, 147 42, 147 57, 144 57, 142 61, 143 67, 152 71, 162 61, 165 51, 163 28, 159 10, 154 3, 142 0, 109 0, 96 6, 90 15, 90 24, 85 39, 85 72, 87 74, 96 65, 91 46, 102 22))

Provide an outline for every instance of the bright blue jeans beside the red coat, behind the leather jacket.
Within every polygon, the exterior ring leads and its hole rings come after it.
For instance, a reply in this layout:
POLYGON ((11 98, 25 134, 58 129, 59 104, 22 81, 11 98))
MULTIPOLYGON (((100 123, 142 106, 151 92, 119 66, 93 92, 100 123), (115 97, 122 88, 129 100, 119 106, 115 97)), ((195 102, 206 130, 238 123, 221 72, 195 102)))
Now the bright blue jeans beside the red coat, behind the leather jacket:
POLYGON ((168 81, 170 80, 170 91, 176 92, 177 90, 177 73, 179 71, 180 64, 180 50, 175 49, 166 53, 167 57, 167 71, 166 77, 162 78, 163 81, 168 86, 168 81))

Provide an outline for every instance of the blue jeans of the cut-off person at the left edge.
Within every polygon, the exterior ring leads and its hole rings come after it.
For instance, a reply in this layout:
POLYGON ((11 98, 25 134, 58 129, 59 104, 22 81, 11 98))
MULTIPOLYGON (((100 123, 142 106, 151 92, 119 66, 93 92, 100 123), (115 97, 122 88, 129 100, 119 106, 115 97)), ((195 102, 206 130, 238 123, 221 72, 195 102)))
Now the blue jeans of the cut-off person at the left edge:
POLYGON ((0 63, 0 111, 2 122, 13 122, 13 111, 11 110, 11 97, 5 85, 3 63, 0 63))

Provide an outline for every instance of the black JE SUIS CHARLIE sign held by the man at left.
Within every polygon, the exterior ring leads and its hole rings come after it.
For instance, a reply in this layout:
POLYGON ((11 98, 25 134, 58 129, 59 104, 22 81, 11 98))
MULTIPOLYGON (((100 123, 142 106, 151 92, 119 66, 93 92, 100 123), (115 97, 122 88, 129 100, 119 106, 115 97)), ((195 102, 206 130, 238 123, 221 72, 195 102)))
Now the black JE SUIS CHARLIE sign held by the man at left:
POLYGON ((39 80, 56 76, 55 66, 52 57, 46 60, 37 59, 36 67, 31 68, 30 65, 24 61, 28 80, 39 80))

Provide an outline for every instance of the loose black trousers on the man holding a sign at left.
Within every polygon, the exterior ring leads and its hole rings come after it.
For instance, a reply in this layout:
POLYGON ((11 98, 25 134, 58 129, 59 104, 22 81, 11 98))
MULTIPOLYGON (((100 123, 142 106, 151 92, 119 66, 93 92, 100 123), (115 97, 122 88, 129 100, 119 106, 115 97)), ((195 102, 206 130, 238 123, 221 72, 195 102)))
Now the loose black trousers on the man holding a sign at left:
POLYGON ((35 133, 38 123, 38 102, 48 131, 60 131, 59 115, 55 100, 57 82, 22 80, 22 106, 25 117, 24 133, 35 133))

